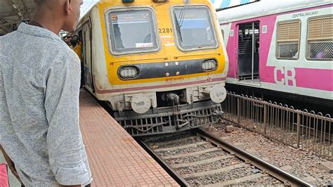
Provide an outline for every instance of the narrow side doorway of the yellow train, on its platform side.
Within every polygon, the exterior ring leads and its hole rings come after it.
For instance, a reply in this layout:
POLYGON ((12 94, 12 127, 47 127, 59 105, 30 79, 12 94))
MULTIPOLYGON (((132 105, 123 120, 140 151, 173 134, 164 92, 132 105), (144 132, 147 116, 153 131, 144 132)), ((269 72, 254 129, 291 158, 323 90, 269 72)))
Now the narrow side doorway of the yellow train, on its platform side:
POLYGON ((91 60, 91 25, 86 22, 83 27, 83 49, 84 49, 84 85, 86 89, 94 92, 93 71, 91 60))

